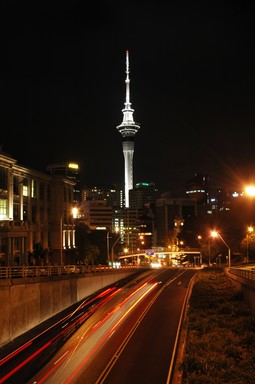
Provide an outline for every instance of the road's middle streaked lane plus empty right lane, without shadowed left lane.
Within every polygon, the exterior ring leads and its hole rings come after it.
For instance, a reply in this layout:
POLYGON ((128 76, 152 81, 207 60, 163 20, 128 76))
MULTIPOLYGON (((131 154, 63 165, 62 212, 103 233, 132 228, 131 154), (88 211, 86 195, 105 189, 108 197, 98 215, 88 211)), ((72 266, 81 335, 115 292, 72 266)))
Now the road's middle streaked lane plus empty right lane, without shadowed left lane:
POLYGON ((195 273, 154 270, 123 287, 28 384, 166 383, 195 273))

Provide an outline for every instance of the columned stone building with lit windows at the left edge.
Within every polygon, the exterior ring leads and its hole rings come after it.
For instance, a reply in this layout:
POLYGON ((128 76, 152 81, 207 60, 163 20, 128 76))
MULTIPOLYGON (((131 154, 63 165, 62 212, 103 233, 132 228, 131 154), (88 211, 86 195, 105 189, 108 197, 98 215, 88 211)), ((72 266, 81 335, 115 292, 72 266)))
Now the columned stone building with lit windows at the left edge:
POLYGON ((63 262, 64 250, 75 247, 74 182, 17 164, 0 152, 0 264, 35 264, 35 244, 43 262, 63 262), (62 246, 61 246, 62 243, 62 246))

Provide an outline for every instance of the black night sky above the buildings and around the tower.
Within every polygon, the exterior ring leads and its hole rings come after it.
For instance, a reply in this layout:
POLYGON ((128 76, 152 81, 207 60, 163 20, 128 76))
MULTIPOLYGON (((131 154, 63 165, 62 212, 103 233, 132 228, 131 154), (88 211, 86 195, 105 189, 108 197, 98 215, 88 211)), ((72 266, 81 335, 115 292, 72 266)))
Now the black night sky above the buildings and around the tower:
POLYGON ((134 182, 181 194, 255 179, 255 6, 246 1, 3 1, 1 140, 21 165, 78 161, 124 181, 129 50, 134 182))

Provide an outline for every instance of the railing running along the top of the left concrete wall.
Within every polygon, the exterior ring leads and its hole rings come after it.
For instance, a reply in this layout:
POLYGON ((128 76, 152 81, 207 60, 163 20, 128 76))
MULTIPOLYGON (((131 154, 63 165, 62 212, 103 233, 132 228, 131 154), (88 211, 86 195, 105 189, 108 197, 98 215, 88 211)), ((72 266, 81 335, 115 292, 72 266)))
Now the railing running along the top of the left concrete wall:
POLYGON ((118 268, 107 265, 64 265, 64 266, 12 266, 0 267, 0 279, 13 279, 24 277, 59 276, 70 274, 85 274, 91 272, 123 271, 137 269, 139 266, 120 266, 118 268))

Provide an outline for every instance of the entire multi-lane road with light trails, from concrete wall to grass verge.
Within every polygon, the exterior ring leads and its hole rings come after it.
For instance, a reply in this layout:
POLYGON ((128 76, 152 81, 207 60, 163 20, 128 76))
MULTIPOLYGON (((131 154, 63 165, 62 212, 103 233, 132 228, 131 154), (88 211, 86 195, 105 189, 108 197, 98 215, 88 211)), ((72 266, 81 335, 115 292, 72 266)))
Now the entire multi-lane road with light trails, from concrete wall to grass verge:
POLYGON ((0 384, 171 383, 195 273, 148 270, 85 299, 0 360, 0 384))

